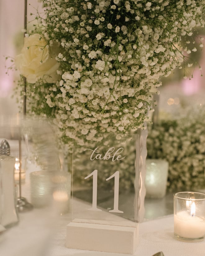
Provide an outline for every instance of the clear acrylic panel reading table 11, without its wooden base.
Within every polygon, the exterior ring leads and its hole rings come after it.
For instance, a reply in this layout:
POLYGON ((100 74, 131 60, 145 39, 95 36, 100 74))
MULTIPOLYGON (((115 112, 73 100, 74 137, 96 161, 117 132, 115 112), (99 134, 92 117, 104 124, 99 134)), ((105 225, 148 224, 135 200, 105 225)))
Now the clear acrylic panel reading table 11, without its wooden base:
POLYGON ((95 135, 84 146, 73 140, 72 219, 135 226, 139 135, 95 135))

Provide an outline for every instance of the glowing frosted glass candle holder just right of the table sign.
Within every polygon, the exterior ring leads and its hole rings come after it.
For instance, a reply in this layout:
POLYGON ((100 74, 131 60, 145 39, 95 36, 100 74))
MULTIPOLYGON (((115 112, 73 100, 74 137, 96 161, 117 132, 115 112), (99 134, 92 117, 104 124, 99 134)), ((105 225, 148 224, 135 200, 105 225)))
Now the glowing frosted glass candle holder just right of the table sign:
POLYGON ((162 198, 166 195, 169 164, 163 159, 146 159, 146 198, 162 198))

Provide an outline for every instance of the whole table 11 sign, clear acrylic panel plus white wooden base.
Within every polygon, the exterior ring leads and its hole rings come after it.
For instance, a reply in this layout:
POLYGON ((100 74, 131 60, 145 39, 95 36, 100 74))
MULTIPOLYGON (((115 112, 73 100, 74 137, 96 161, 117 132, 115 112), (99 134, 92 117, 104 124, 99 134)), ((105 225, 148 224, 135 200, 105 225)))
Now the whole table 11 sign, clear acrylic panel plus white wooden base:
POLYGON ((139 243, 139 135, 98 133, 95 138, 84 146, 73 143, 66 246, 134 254, 139 243))

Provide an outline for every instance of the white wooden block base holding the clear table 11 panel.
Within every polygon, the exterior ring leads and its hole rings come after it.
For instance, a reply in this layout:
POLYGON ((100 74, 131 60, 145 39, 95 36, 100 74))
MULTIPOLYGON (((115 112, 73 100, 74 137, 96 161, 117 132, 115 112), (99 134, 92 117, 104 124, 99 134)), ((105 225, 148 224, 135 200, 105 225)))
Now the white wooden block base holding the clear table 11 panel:
POLYGON ((127 227, 113 225, 112 221, 74 219, 67 225, 67 248, 134 254, 138 244, 138 223, 127 227))

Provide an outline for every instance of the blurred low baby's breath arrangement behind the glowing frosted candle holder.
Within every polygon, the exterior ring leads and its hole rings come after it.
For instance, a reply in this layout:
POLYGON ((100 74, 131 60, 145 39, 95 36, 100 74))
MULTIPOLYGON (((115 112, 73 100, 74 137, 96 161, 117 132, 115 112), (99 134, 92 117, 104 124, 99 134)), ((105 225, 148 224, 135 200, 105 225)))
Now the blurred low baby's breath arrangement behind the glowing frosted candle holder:
POLYGON ((169 162, 168 189, 205 189, 204 106, 149 126, 148 158, 169 162))

